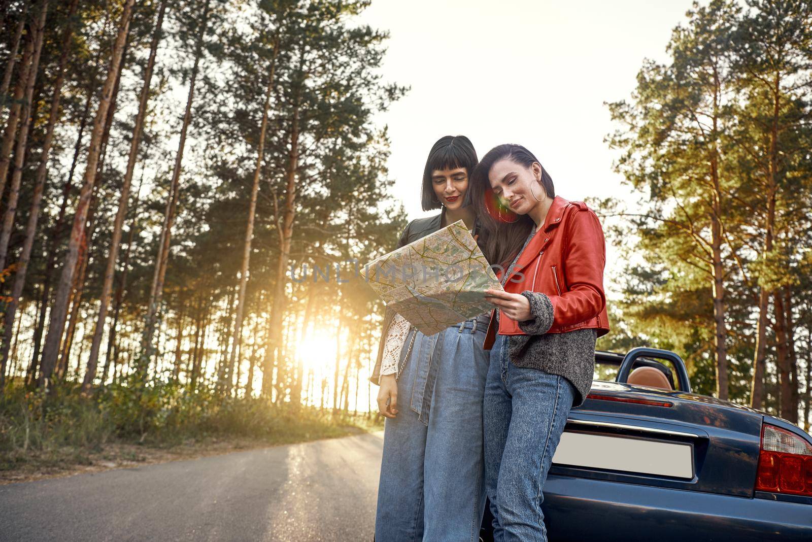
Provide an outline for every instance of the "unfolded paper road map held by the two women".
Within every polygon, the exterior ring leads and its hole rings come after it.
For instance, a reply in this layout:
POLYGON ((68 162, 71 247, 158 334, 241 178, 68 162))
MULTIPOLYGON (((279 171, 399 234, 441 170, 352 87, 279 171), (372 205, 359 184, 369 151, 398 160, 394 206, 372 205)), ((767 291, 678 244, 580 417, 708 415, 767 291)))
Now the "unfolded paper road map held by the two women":
POLYGON ((361 275, 425 335, 490 312, 485 290, 503 290, 461 220, 369 262, 361 275))

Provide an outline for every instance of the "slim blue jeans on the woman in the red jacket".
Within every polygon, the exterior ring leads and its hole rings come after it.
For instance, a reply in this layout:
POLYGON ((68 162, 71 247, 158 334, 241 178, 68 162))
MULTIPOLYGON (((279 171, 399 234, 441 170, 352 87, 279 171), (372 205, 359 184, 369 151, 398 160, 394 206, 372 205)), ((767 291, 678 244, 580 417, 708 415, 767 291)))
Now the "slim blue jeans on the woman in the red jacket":
POLYGON ((490 350, 485 385, 485 485, 496 542, 546 542, 542 488, 575 389, 563 376, 516 367, 508 337, 490 350))

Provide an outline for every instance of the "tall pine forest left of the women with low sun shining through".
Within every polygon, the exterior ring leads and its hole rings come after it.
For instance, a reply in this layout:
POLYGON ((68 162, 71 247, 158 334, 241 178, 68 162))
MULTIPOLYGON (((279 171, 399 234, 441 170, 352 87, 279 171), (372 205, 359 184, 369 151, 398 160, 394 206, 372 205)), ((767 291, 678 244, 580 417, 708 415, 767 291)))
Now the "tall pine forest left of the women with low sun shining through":
POLYGON ((285 279, 405 225, 367 5, 0 3, 6 446, 77 412, 143 437, 228 398, 370 410, 380 302, 285 279))

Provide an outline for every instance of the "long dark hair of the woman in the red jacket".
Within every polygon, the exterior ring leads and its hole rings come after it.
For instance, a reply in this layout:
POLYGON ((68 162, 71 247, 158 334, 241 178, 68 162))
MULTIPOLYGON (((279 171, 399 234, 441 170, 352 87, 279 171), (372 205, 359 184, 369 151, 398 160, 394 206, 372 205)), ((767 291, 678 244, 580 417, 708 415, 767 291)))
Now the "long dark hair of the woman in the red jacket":
MULTIPOLYGON (((525 244, 530 230, 535 227, 535 223, 528 215, 516 215, 502 204, 496 203, 498 199, 490 188, 488 175, 490 168, 500 160, 510 160, 525 168, 532 166, 533 162, 538 162, 539 166, 542 166, 542 163, 521 145, 502 144, 491 148, 482 157, 482 161, 473 170, 469 181, 466 196, 473 204, 474 213, 479 217, 482 229, 486 232, 482 252, 491 265, 501 265, 503 269, 508 269, 508 265, 525 244), (490 209, 488 209, 489 204, 490 209), (498 213, 494 213, 494 209, 497 209, 498 213), (499 216, 495 216, 495 214, 499 216), (508 217, 508 219, 502 217, 508 217)), ((544 187, 547 197, 555 197, 553 179, 544 166, 542 166, 542 187, 544 187)))

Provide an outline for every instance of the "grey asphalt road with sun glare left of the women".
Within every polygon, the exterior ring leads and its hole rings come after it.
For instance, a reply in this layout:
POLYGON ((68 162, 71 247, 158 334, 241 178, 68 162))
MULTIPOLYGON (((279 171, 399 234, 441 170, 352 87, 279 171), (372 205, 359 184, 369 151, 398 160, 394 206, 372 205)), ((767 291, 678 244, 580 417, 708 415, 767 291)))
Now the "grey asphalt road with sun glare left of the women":
POLYGON ((0 486, 0 540, 372 540, 383 433, 0 486))

